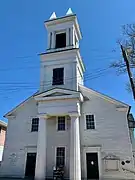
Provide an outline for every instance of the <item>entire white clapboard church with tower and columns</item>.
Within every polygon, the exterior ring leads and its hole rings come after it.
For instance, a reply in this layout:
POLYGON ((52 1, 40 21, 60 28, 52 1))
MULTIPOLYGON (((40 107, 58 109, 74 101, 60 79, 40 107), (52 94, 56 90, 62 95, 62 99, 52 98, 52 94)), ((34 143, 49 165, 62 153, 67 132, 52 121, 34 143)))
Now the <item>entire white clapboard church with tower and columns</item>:
POLYGON ((40 54, 39 91, 8 112, 1 177, 135 179, 128 126, 130 106, 84 86, 76 15, 44 22, 48 48, 40 54))

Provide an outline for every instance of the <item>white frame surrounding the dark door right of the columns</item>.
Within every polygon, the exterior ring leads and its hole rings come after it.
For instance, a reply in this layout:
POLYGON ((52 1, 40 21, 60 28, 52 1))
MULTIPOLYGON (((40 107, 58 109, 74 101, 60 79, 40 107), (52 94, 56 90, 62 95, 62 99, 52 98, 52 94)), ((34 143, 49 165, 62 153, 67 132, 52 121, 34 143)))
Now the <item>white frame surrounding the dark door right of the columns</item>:
POLYGON ((102 160, 101 160, 101 147, 84 147, 83 148, 83 162, 84 162, 84 178, 87 179, 87 153, 97 153, 98 156, 98 169, 99 169, 99 179, 102 177, 102 160))

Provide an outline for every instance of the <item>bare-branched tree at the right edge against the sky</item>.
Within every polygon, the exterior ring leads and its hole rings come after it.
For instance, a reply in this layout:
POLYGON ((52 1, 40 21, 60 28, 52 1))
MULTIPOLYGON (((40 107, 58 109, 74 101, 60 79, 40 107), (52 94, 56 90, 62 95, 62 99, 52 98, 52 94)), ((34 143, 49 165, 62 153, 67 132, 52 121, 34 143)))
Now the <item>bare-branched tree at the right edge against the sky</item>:
MULTIPOLYGON (((131 83, 130 81, 130 83, 127 84, 127 89, 132 90, 133 94, 135 94, 134 92, 135 88, 132 87, 132 86, 135 86, 135 24, 124 25, 122 29, 123 29, 124 38, 121 42, 119 41, 118 43, 122 50, 122 55, 124 53, 126 56, 126 57, 123 57, 124 60, 125 58, 127 58, 128 60, 130 72, 131 72, 131 75, 133 76, 133 83, 131 83)), ((123 59, 113 62, 111 64, 111 67, 115 68, 118 74, 127 72, 127 63, 126 61, 123 61, 123 59)))

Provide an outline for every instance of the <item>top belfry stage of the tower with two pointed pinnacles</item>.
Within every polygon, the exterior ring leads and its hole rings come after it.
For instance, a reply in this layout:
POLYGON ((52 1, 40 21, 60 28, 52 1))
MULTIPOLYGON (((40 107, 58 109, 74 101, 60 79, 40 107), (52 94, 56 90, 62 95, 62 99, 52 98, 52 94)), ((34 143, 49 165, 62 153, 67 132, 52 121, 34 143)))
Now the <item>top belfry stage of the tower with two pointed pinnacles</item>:
POLYGON ((45 22, 45 26, 48 32, 48 52, 79 48, 82 36, 77 17, 71 8, 64 17, 57 18, 53 12, 50 19, 45 22))

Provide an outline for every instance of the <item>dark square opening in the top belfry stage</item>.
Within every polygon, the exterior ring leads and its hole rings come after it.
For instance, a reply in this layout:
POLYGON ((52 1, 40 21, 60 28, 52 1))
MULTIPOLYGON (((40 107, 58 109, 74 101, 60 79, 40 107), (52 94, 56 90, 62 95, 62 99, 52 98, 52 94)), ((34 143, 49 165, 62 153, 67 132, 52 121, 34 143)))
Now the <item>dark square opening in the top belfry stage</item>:
POLYGON ((56 34, 56 46, 55 48, 66 47, 66 33, 56 34))

